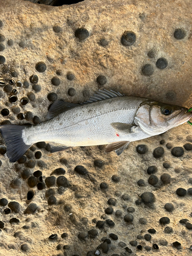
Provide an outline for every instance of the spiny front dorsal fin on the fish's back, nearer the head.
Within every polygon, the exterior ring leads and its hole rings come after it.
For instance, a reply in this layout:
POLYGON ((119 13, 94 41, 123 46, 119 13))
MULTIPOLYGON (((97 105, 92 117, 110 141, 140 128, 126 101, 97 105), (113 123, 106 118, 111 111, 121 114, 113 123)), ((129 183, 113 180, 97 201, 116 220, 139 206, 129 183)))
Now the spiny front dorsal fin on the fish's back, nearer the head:
POLYGON ((96 93, 94 93, 93 96, 91 96, 86 102, 83 103, 92 103, 92 102, 96 102, 99 100, 104 100, 104 99, 110 99, 110 98, 115 98, 115 97, 119 97, 119 96, 124 96, 124 94, 121 94, 120 92, 115 92, 113 90, 100 90, 96 93))

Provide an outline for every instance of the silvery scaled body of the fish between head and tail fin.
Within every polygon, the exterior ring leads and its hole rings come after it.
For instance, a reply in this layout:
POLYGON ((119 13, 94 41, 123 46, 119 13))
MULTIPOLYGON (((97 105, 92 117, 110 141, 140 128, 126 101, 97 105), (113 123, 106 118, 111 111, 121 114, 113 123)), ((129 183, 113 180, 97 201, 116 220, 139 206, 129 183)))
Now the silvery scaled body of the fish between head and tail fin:
POLYGON ((143 100, 144 98, 134 96, 122 96, 80 105, 32 126, 26 130, 25 135, 29 144, 53 141, 68 146, 86 146, 122 141, 125 136, 117 137, 111 123, 132 124, 143 100))

